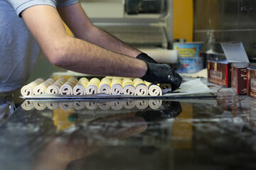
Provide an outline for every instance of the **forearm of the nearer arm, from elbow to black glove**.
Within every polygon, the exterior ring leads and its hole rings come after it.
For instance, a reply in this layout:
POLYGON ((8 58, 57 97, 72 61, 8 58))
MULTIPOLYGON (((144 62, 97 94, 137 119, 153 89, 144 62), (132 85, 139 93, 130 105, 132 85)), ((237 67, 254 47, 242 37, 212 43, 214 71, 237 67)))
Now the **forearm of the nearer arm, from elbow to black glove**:
MULTIPOLYGON (((97 74, 118 77, 143 77, 146 64, 141 60, 105 50, 90 42, 77 38, 65 38, 59 50, 58 60, 53 64, 64 69, 85 74, 97 74)), ((48 58, 56 57, 50 56, 48 58)), ((50 59, 51 60, 51 59, 50 59)))

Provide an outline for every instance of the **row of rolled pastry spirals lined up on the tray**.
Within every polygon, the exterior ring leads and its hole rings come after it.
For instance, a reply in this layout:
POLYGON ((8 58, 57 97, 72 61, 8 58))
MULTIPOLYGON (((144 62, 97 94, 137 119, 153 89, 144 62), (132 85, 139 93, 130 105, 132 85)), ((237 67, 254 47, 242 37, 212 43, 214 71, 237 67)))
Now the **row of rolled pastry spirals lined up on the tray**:
MULTIPOLYGON (((102 80, 92 78, 90 81, 82 77, 76 79, 70 77, 68 80, 59 78, 54 81, 53 78, 36 79, 23 87, 23 96, 32 94, 63 94, 63 95, 85 95, 85 94, 127 94, 137 96, 161 96, 162 91, 170 91, 169 84, 151 84, 142 79, 130 79, 114 77, 112 79, 105 77, 102 80), (26 87, 26 88, 25 88, 26 87), (26 89, 26 92, 25 90, 26 89)), ((21 91, 22 92, 22 91, 21 91)))

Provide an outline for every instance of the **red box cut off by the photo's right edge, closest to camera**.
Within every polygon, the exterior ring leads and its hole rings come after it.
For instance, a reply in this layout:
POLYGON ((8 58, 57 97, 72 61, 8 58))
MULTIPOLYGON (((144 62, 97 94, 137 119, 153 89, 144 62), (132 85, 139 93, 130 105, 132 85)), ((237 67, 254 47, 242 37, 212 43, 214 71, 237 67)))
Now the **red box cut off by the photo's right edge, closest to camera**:
POLYGON ((256 98, 256 67, 247 68, 247 96, 256 98))

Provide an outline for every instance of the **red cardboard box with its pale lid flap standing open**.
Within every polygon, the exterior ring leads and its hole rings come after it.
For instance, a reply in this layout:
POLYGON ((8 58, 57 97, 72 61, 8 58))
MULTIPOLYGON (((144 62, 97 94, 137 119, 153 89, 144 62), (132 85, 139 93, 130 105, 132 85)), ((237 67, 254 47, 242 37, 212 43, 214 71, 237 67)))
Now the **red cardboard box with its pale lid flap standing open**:
POLYGON ((249 63, 242 42, 222 42, 225 61, 207 62, 208 81, 221 86, 231 86, 231 64, 235 62, 249 63))

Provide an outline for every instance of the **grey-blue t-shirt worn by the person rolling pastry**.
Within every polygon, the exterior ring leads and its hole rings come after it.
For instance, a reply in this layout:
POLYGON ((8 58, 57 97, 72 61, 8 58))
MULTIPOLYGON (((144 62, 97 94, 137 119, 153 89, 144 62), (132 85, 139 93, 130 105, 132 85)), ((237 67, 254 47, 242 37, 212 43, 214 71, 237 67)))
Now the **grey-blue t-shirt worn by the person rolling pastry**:
POLYGON ((0 97, 23 86, 40 55, 40 47, 20 14, 35 5, 55 8, 78 0, 0 0, 0 97))

